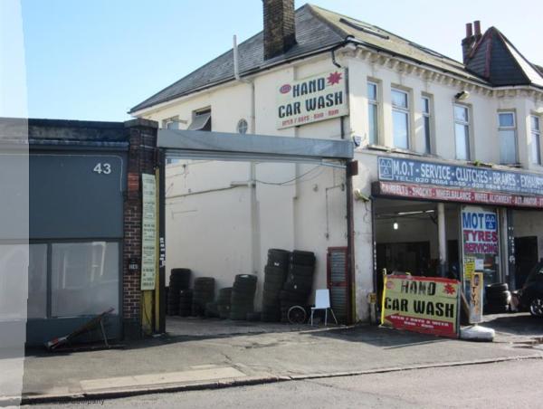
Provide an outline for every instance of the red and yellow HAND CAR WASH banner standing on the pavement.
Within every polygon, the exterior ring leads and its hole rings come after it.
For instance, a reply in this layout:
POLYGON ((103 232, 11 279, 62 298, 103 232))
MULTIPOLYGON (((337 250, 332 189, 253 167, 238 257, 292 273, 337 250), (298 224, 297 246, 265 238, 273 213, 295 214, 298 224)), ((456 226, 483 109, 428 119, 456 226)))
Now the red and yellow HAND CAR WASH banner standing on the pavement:
POLYGON ((459 290, 456 280, 385 276, 381 325, 457 338, 459 290))

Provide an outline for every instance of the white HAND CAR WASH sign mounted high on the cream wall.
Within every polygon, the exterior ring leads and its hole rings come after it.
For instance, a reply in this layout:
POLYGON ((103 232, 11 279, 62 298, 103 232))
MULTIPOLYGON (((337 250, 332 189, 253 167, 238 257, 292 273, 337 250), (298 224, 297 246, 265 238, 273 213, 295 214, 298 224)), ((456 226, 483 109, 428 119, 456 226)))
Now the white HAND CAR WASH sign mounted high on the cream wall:
POLYGON ((297 127, 348 115, 345 70, 323 72, 277 89, 277 128, 297 127))

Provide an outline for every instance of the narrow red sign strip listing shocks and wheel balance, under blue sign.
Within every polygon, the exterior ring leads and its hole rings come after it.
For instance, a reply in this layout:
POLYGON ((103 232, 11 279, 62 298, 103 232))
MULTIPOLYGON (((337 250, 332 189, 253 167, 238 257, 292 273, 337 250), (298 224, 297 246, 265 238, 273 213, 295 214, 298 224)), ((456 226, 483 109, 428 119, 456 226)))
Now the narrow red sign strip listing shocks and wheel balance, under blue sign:
POLYGON ((509 195, 395 182, 376 182, 373 185, 373 193, 375 195, 392 195, 440 202, 543 208, 543 196, 509 195))

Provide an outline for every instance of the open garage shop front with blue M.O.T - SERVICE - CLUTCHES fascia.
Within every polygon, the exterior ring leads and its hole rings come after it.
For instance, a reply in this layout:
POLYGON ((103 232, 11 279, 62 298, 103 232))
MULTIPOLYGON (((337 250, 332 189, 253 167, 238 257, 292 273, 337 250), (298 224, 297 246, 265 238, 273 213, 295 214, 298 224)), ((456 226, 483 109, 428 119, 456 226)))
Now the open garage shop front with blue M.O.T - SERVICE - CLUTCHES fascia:
POLYGON ((519 288, 541 252, 543 175, 377 157, 376 286, 383 272, 519 288))

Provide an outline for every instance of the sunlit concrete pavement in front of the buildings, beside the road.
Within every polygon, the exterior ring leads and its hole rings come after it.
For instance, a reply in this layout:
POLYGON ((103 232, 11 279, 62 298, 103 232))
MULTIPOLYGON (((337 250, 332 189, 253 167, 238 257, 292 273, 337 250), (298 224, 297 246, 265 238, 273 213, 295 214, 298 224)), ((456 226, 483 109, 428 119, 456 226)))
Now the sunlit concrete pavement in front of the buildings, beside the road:
POLYGON ((174 319, 168 329, 167 337, 126 349, 32 351, 24 362, 24 402, 540 358, 543 352, 531 333, 499 332, 497 342, 481 344, 371 326, 310 329, 174 319))

